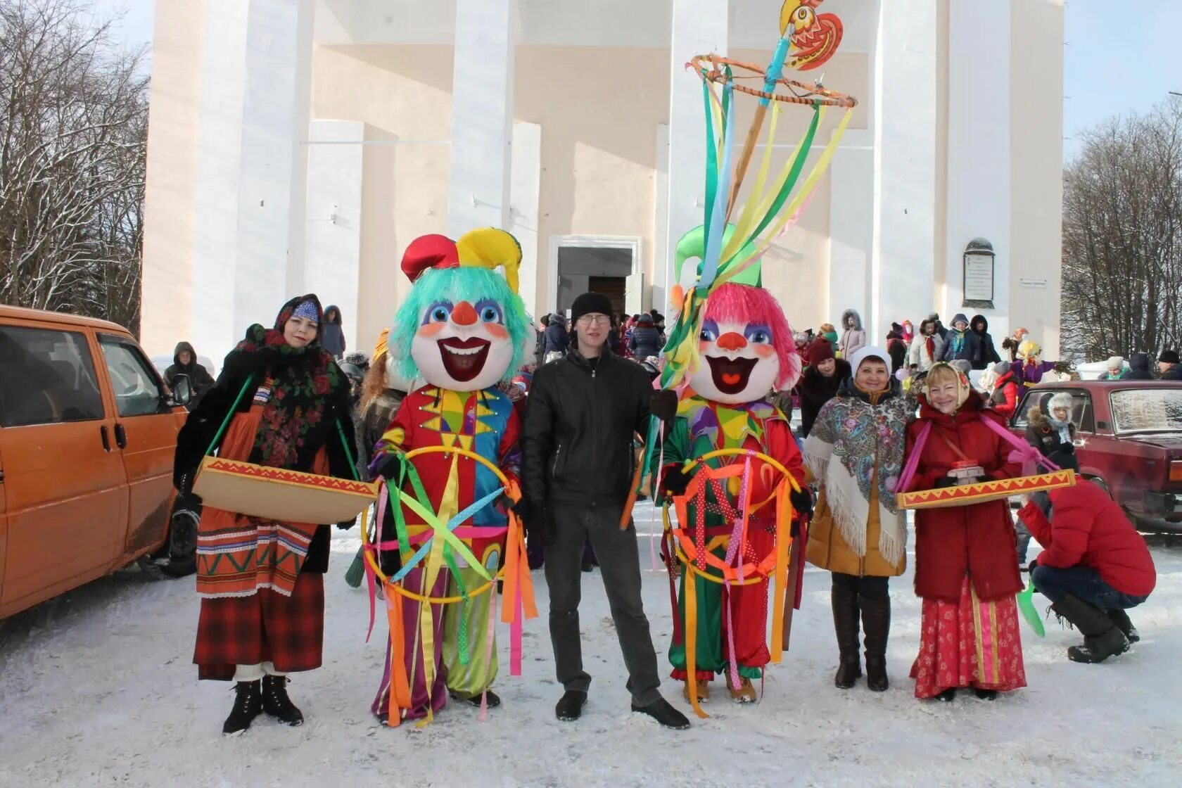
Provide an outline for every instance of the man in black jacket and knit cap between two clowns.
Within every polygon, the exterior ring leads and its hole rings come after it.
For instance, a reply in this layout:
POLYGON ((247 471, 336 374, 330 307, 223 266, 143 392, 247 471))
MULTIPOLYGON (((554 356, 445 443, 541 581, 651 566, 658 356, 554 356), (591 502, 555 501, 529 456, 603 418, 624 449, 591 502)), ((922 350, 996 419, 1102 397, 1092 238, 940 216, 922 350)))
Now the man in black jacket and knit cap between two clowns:
POLYGON ((632 435, 648 435, 655 395, 638 364, 605 352, 610 314, 605 295, 574 299, 574 341, 564 358, 534 372, 521 441, 525 523, 531 538, 546 541, 550 639, 565 690, 554 712, 563 721, 578 719, 591 684, 579 634, 579 565, 590 539, 628 666, 632 711, 683 729, 689 721, 660 692, 641 600, 636 528, 631 521, 619 527, 635 463, 632 435))

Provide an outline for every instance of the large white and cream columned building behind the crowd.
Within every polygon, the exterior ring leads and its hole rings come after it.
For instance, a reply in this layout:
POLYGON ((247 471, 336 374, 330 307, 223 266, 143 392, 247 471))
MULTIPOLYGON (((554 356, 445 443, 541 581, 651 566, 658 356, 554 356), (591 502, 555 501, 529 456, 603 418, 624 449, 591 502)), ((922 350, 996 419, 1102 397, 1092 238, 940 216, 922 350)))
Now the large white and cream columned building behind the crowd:
MULTIPOLYGON (((1022 325, 1056 358, 1063 1, 818 11, 845 31, 824 83, 859 104, 765 256, 790 321, 852 307, 881 341, 891 320, 982 313, 999 343, 1022 325), (996 255, 992 308, 965 305, 978 237, 996 255)), ((481 226, 521 241, 534 314, 589 287, 668 311, 673 245, 702 222, 701 83, 684 64, 766 63, 779 14, 780 0, 157 2, 144 345, 220 357, 316 292, 369 351, 407 291, 405 246, 481 226)), ((780 161, 808 115, 784 111, 780 161)))

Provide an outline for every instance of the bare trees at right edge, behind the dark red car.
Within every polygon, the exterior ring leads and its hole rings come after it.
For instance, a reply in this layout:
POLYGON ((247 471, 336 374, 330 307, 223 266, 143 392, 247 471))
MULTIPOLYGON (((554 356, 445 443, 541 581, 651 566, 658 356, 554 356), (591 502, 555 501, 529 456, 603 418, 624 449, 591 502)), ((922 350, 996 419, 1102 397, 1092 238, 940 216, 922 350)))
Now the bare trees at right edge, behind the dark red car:
POLYGON ((1182 100, 1084 132, 1064 171, 1063 345, 1085 358, 1182 345, 1182 100))

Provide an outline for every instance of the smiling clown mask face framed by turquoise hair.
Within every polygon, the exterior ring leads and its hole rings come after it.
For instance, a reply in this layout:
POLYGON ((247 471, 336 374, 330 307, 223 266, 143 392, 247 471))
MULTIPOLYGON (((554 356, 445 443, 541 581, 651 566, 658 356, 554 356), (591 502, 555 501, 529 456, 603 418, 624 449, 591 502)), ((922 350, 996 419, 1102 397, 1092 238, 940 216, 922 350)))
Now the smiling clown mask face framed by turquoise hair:
POLYGON ((428 383, 453 391, 495 385, 513 360, 500 304, 439 300, 420 315, 410 356, 428 383))

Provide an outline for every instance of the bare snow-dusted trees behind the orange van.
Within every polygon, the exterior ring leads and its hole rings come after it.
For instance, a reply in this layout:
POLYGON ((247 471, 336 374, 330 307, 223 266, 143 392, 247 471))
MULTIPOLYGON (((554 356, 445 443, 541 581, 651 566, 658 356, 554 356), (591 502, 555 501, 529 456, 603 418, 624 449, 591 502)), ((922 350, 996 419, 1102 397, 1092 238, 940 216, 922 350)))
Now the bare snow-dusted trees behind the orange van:
POLYGON ((0 302, 138 331, 148 79, 80 0, 0 0, 0 302))

